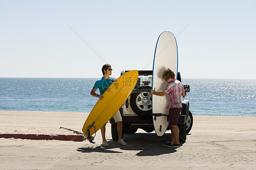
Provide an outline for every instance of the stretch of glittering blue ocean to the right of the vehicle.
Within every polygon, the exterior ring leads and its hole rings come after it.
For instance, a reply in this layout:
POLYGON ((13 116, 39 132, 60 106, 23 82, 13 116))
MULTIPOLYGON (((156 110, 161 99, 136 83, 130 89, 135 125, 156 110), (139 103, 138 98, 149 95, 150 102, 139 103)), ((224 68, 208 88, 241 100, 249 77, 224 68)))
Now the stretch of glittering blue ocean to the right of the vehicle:
POLYGON ((256 116, 256 80, 184 79, 192 115, 256 116))

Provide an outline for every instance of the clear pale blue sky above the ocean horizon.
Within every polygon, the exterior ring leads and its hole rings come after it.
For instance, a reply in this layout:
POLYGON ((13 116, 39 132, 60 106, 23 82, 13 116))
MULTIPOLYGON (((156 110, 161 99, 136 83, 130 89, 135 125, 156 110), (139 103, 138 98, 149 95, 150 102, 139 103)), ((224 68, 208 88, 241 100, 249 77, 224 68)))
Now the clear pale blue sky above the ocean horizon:
POLYGON ((170 31, 183 78, 256 79, 255 9, 254 0, 0 0, 0 77, 101 77, 104 61, 113 77, 152 70, 170 31))

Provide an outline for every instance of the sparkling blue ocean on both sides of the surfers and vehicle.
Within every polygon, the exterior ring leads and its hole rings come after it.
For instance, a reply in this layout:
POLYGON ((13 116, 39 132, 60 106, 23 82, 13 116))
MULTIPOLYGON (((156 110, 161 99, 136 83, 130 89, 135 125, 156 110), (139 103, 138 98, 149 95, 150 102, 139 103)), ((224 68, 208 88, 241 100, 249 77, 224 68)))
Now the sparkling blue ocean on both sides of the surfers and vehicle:
MULTIPOLYGON (((0 78, 0 110, 90 112, 98 78, 0 78)), ((183 79, 193 115, 256 116, 256 80, 183 79)), ((96 93, 99 94, 97 90, 96 93)))

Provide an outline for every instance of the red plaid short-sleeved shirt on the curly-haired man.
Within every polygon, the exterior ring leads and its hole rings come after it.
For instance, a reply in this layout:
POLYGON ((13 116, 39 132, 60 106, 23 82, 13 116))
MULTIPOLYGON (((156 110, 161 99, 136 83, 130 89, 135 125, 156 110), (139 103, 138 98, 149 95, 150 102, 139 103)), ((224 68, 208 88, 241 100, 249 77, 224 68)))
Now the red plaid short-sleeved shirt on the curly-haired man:
POLYGON ((166 92, 168 94, 168 100, 169 100, 169 104, 167 107, 168 110, 173 107, 176 107, 176 108, 182 107, 182 104, 181 104, 182 91, 185 91, 185 90, 184 90, 182 82, 180 82, 179 80, 173 79, 167 85, 164 92, 166 92))

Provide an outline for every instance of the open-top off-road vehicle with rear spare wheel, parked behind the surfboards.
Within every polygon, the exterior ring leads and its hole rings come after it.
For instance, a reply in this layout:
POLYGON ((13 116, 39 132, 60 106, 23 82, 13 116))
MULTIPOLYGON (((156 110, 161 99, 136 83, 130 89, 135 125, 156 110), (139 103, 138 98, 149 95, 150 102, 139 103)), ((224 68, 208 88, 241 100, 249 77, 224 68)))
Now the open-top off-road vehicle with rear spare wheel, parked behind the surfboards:
MULTIPOLYGON (((128 72, 128 71, 125 71, 128 72)), ((121 75, 125 73, 121 72, 121 75)), ((181 81, 180 73, 177 74, 177 80, 181 81)), ((123 120, 123 134, 134 134, 138 128, 146 132, 154 131, 152 119, 152 71, 139 71, 138 81, 129 98, 125 101, 123 107, 119 109, 123 120)), ((189 92, 189 85, 184 85, 185 92, 189 92)), ((118 140, 117 123, 113 118, 110 119, 111 134, 114 141, 118 140)), ((182 101, 182 111, 179 115, 178 128, 179 140, 184 142, 186 134, 191 130, 193 117, 189 110, 189 101, 182 101)), ((170 127, 167 128, 170 130, 170 127)))

